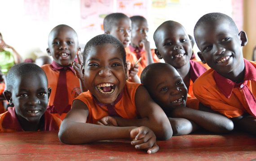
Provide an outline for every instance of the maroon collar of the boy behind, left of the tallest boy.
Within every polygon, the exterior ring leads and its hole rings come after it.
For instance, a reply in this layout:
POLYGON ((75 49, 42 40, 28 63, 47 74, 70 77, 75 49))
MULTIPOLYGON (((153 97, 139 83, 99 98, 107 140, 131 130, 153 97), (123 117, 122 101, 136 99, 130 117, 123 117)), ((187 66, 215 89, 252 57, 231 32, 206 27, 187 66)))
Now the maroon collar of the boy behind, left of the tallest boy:
POLYGON ((194 82, 199 76, 201 76, 206 68, 203 67, 200 63, 190 60, 190 79, 194 82))

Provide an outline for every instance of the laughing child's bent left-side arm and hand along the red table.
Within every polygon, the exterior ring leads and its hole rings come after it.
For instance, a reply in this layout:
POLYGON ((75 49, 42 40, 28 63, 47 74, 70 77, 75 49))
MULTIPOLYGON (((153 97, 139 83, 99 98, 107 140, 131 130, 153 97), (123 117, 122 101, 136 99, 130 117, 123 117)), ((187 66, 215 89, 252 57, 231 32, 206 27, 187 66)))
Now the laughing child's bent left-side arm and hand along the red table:
POLYGON ((98 140, 134 139, 131 144, 135 145, 135 148, 148 149, 148 153, 158 151, 156 137, 149 128, 110 127, 86 123, 88 114, 88 107, 84 102, 75 100, 72 109, 62 121, 58 134, 59 139, 67 144, 85 144, 98 140))

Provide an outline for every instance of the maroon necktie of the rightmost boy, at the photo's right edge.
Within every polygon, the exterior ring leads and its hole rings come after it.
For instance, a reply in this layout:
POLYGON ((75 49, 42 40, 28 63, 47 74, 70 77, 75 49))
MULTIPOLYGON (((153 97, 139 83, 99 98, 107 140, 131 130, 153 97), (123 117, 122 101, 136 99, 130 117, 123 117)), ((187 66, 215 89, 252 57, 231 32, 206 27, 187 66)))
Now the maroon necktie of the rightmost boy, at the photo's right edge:
POLYGON ((253 96, 250 89, 248 89, 247 80, 245 80, 243 84, 240 85, 239 88, 243 91, 245 100, 251 110, 251 114, 253 114, 253 116, 256 117, 256 98, 253 96))

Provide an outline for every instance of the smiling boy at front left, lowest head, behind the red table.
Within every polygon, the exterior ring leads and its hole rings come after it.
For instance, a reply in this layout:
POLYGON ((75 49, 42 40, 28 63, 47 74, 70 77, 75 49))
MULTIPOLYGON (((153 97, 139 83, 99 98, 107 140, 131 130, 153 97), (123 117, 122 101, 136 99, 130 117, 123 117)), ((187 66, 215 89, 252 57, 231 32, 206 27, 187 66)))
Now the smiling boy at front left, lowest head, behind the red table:
POLYGON ((0 114, 0 132, 59 130, 62 121, 46 111, 51 89, 39 66, 14 65, 6 80, 4 97, 14 107, 0 114))

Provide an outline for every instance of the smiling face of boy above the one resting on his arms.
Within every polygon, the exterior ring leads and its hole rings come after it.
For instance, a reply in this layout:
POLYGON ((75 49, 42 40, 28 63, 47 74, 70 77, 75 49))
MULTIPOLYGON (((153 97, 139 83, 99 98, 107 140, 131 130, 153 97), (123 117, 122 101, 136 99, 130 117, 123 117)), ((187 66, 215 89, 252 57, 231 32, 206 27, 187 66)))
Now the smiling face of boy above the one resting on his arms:
POLYGON ((163 25, 156 34, 156 47, 159 51, 158 57, 174 68, 181 68, 189 63, 192 55, 190 38, 184 27, 172 22, 172 25, 163 25))

